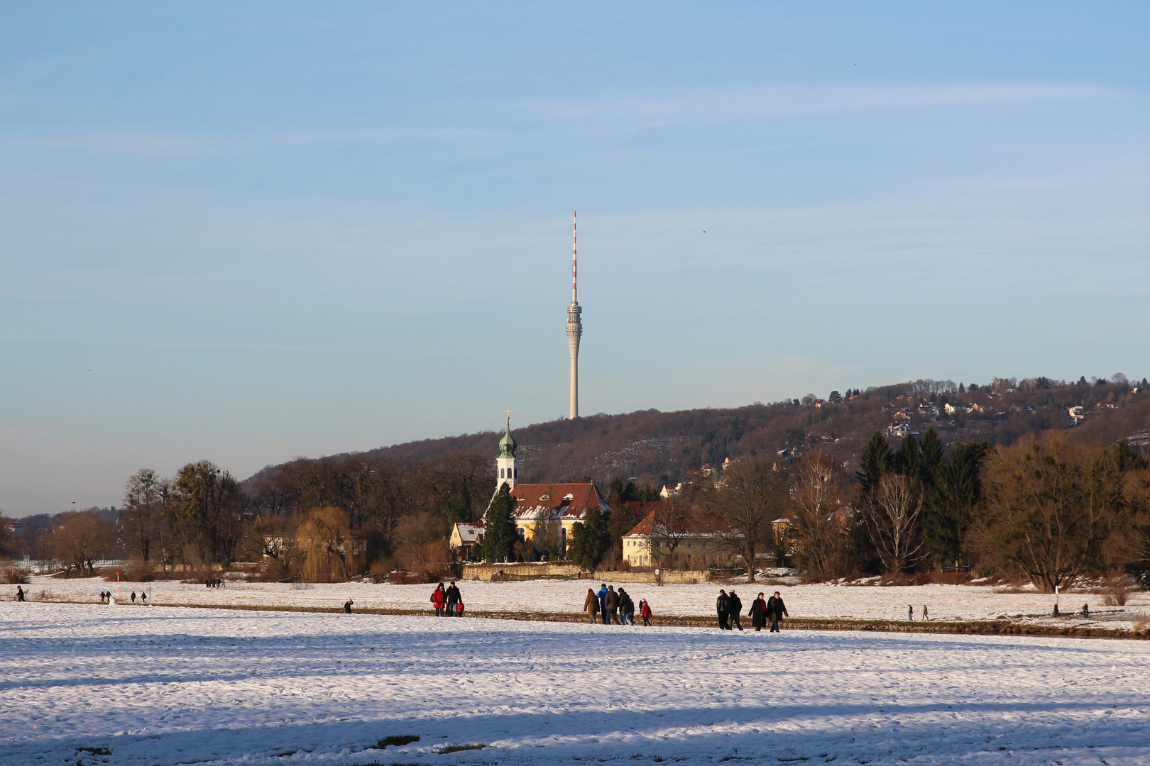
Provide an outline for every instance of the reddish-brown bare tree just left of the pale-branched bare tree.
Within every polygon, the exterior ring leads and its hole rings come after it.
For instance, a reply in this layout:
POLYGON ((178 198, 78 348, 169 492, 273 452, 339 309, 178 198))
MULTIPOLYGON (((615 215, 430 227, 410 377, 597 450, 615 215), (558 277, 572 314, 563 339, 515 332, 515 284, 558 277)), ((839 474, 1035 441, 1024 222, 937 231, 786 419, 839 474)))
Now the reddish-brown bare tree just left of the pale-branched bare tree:
POLYGON ((803 566, 818 580, 836 577, 843 564, 846 535, 841 477, 838 461, 821 450, 803 455, 795 475, 791 533, 803 566))

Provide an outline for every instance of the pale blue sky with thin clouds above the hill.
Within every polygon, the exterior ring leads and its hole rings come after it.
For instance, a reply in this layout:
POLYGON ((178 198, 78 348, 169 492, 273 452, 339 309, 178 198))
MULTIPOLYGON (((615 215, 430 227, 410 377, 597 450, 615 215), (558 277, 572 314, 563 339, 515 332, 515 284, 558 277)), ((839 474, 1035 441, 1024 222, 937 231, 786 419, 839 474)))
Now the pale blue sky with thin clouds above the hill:
MULTIPOLYGON (((1147 3, 5 3, 0 508, 1150 374, 1147 3)), ((72 504, 76 505, 72 505, 72 504)))

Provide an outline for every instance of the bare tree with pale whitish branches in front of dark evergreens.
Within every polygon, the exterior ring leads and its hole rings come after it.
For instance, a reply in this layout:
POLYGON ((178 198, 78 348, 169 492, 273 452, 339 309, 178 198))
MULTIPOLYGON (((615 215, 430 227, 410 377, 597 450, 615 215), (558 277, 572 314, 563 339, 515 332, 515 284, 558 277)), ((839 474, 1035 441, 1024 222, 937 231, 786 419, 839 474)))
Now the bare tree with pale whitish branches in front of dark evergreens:
POLYGON ((913 480, 883 474, 864 500, 862 511, 867 534, 889 574, 918 563, 923 550, 919 528, 922 490, 913 480))

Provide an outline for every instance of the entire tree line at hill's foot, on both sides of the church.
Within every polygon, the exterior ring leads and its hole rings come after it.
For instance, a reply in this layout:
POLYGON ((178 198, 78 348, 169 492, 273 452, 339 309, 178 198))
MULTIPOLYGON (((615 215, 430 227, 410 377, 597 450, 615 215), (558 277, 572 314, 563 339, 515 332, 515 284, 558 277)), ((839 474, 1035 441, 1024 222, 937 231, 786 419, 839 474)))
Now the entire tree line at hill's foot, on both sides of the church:
MULTIPOLYGON (((790 563, 813 580, 972 571, 1050 591, 1083 572, 1150 568, 1150 467, 1122 442, 1049 432, 948 449, 934 430, 895 446, 875 433, 858 470, 846 464, 819 449, 747 455, 721 477, 696 472, 670 502, 616 479, 608 510, 592 508, 564 547, 557 535, 519 537, 509 494, 492 497, 490 461, 475 455, 300 458, 244 483, 200 461, 172 477, 133 473, 118 511, 62 513, 38 546, 85 574, 109 555, 155 571, 260 562, 277 579, 430 571, 452 558, 452 524, 482 518, 490 502, 486 560, 616 567, 623 535, 653 514, 665 544, 652 563, 664 566, 682 565, 684 541, 703 531, 707 565, 736 562, 753 574, 790 563)), ((0 547, 18 542, 0 524, 0 547)))

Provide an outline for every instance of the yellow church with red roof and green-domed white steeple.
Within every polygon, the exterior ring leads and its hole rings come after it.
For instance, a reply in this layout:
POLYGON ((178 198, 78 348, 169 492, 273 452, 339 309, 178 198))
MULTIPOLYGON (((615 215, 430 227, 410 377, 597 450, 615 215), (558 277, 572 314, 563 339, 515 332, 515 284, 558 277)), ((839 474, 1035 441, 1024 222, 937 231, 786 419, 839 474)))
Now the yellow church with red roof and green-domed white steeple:
MULTIPOLYGON (((560 558, 572 539, 572 527, 586 518, 595 506, 606 511, 608 505, 593 481, 569 483, 520 483, 519 462, 515 458, 515 438, 511 435, 511 416, 507 432, 499 440, 499 457, 496 458, 496 492, 507 485, 514 501, 512 518, 523 541, 538 535, 555 535, 555 548, 560 558)), ((491 504, 488 504, 490 510, 491 504)), ((483 517, 486 518, 486 511, 483 517)))

